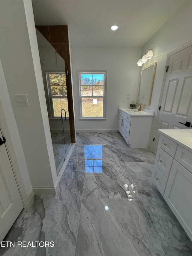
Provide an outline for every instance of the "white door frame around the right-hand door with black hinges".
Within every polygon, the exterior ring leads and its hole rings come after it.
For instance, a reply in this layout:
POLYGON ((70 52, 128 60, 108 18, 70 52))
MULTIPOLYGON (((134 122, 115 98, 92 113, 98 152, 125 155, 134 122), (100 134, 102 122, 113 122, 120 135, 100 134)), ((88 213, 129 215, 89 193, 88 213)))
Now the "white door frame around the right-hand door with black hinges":
MULTIPOLYGON (((174 55, 176 53, 179 53, 180 51, 186 49, 187 47, 190 47, 191 45, 192 45, 192 40, 188 41, 187 43, 183 44, 182 46, 180 46, 180 47, 176 48, 175 50, 171 51, 170 53, 168 53, 166 64, 165 64, 166 67, 169 65, 170 57, 172 55, 174 55)), ((167 73, 166 73, 166 69, 165 69, 158 106, 161 106, 161 101, 162 101, 162 98, 163 98, 163 92, 164 92, 166 77, 167 77, 167 73)), ((156 134, 158 119, 159 119, 159 111, 158 111, 158 114, 157 114, 157 117, 156 117, 156 120, 155 120, 155 129, 154 129, 154 136, 153 137, 155 137, 155 134, 156 134)), ((151 150, 153 150, 153 145, 154 145, 154 142, 152 141, 151 150)))

